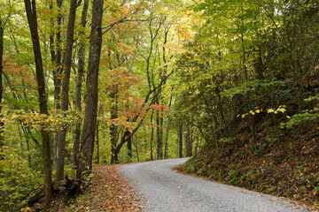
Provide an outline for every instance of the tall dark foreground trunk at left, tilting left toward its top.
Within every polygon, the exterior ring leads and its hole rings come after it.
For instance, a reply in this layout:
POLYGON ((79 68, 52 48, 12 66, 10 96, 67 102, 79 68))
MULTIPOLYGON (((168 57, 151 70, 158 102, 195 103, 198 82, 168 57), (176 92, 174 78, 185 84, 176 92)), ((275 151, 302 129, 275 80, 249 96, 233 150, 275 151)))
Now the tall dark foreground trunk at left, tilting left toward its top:
MULTIPOLYGON (((37 90, 39 96, 40 113, 49 115, 47 101, 48 97, 45 93, 45 80, 43 75, 43 60, 41 55, 40 40, 37 30, 37 17, 35 0, 25 0, 25 7, 27 11, 27 22, 30 28, 32 37, 32 44, 35 55, 35 73, 37 90)), ((52 198, 52 178, 51 178, 51 148, 50 148, 50 134, 44 130, 44 126, 41 130, 43 141, 43 173, 44 173, 44 194, 45 194, 45 207, 48 207, 52 198)))

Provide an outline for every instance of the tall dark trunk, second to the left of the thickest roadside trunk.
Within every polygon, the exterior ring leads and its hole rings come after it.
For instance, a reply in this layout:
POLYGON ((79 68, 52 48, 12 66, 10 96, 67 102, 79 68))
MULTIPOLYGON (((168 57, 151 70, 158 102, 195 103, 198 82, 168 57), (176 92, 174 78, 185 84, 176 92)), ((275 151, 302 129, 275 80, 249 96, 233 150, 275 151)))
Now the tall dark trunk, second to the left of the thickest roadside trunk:
MULTIPOLYGON (((70 73, 71 73, 71 65, 72 65, 72 49, 73 49, 73 43, 74 43, 76 3, 77 3, 77 0, 71 0, 69 19, 68 19, 67 31, 66 31, 66 52, 64 56, 62 98, 61 98, 61 110, 63 112, 68 110, 68 103, 69 103, 69 85, 70 85, 70 73)), ((57 181, 63 180, 64 178, 66 132, 67 132, 67 125, 63 125, 62 129, 58 133, 57 173, 56 173, 57 181)))

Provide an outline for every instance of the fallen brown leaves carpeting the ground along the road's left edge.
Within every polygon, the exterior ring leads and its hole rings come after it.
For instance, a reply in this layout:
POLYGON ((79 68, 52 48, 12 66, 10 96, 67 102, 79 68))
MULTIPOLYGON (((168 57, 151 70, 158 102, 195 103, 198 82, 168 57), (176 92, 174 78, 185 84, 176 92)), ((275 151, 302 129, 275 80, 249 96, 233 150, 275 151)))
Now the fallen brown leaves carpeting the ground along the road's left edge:
POLYGON ((121 165, 99 165, 93 168, 92 184, 73 200, 53 201, 48 211, 143 211, 140 199, 121 175, 121 165))

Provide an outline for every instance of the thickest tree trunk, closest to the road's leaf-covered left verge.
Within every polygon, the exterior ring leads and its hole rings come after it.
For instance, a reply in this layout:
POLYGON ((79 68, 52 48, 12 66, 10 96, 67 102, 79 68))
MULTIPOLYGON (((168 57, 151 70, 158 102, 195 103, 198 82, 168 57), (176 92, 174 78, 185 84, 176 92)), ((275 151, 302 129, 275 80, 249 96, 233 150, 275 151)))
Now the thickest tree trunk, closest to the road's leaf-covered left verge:
POLYGON ((83 178, 92 171, 92 156, 97 125, 98 70, 102 47, 103 3, 104 0, 93 1, 92 27, 89 39, 87 97, 85 100, 86 107, 79 154, 79 167, 76 172, 77 178, 83 178))

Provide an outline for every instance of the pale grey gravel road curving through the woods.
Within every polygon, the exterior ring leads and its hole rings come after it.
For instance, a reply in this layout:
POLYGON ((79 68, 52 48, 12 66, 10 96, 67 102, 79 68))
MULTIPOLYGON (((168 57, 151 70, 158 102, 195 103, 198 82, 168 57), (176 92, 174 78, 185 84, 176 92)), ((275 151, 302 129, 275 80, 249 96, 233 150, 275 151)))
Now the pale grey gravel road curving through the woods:
POLYGON ((185 176, 171 170, 187 160, 132 163, 122 166, 121 173, 133 184, 136 192, 143 196, 145 211, 307 211, 280 198, 185 176))

